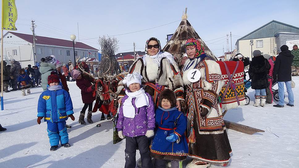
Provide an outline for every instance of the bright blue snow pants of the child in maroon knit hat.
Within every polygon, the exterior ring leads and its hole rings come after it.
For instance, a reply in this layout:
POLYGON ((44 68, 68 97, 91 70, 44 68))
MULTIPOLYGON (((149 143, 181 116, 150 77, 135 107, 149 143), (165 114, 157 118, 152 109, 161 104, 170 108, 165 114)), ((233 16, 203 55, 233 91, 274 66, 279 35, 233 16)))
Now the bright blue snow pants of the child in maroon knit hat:
POLYGON ((65 144, 69 142, 69 134, 67 133, 65 127, 66 121, 60 122, 47 122, 48 128, 48 136, 50 138, 50 145, 55 146, 59 145, 59 141, 61 144, 65 144))

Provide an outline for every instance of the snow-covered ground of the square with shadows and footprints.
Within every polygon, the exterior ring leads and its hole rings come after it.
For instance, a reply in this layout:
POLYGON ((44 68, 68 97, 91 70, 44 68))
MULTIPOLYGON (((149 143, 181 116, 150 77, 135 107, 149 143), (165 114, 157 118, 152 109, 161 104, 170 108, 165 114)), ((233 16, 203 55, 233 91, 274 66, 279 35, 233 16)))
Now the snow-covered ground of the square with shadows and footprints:
MULTIPOLYGON (((228 130, 231 168, 298 167, 299 165, 299 77, 293 77, 297 87, 293 89, 295 107, 253 107, 254 90, 247 95, 248 106, 229 110, 225 120, 265 130, 247 135, 228 130)), ((37 100, 42 88, 31 89, 31 94, 21 96, 21 91, 4 93, 5 110, 0 111, 0 123, 7 131, 0 133, 0 168, 58 168, 58 167, 124 167, 125 141, 112 143, 112 121, 99 123, 101 113, 94 113, 94 124, 80 125, 78 117, 83 106, 80 90, 75 82, 69 82, 74 105, 75 121, 68 120, 71 147, 50 151, 46 123, 36 123, 37 100)), ((287 101, 287 95, 285 98, 287 101)), ((138 153, 138 151, 137 151, 138 153)), ((139 158, 139 154, 137 154, 139 158)), ((189 159, 184 161, 184 167, 189 159)), ((211 166, 221 167, 221 166, 211 166)))

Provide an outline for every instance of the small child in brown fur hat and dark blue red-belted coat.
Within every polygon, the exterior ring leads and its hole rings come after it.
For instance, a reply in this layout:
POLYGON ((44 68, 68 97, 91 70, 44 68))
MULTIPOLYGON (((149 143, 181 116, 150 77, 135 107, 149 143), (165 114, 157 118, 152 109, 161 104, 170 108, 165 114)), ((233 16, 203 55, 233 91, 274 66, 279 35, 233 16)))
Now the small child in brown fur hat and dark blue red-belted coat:
POLYGON ((156 110, 158 129, 150 145, 150 155, 155 158, 155 168, 164 168, 165 160, 171 161, 172 168, 182 167, 187 158, 188 145, 184 135, 187 128, 186 116, 176 108, 175 93, 169 89, 159 95, 156 110))

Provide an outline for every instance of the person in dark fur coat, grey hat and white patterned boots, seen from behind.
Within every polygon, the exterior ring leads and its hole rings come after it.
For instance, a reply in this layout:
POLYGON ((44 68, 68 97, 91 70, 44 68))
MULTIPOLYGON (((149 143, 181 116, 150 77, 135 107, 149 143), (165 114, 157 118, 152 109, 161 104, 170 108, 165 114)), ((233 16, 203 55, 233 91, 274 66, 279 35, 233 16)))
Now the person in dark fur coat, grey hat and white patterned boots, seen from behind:
POLYGON ((255 103, 253 106, 265 106, 267 94, 266 88, 269 86, 267 75, 271 66, 269 61, 263 57, 261 51, 255 50, 249 65, 249 78, 251 78, 251 88, 255 89, 255 103))

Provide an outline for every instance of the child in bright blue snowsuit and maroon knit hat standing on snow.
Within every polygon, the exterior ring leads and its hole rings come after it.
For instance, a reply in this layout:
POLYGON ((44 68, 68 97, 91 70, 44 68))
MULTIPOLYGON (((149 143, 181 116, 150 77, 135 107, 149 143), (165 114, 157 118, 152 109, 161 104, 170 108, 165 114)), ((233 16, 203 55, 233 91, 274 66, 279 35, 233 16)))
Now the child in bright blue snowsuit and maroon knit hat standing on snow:
POLYGON ((62 89, 58 75, 53 72, 48 76, 47 90, 40 94, 37 112, 38 124, 42 118, 47 121, 50 151, 58 148, 59 141, 61 146, 70 147, 65 124, 68 117, 75 120, 73 103, 69 93, 62 89))

